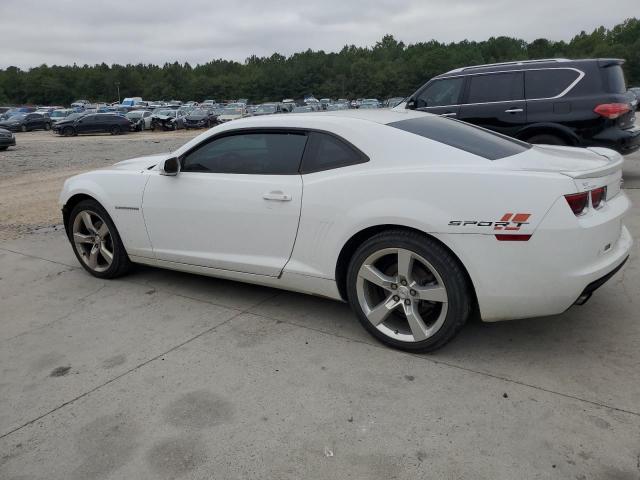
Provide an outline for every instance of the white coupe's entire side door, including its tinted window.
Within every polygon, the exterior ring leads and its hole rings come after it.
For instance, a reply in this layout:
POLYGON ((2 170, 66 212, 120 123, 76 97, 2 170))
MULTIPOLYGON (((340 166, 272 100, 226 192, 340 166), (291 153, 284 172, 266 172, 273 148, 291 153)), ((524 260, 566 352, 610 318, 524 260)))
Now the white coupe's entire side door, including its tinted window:
POLYGON ((302 205, 300 131, 242 130, 154 172, 143 212, 157 259, 278 276, 291 255, 302 205))

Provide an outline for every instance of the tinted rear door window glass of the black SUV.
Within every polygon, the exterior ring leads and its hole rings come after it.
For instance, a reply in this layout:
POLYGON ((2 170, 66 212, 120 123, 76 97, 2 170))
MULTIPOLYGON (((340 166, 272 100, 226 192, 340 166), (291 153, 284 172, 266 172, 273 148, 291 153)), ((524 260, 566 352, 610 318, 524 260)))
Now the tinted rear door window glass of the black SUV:
POLYGON ((466 103, 505 102, 524 99, 522 72, 490 73, 470 77, 466 103))

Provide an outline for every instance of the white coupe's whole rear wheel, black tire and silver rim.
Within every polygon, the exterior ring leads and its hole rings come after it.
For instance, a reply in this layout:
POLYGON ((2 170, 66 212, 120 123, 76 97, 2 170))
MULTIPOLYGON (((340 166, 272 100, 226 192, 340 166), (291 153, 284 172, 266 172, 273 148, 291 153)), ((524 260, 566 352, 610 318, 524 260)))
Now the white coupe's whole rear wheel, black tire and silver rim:
POLYGON ((363 243, 347 273, 349 303, 378 340, 411 352, 436 350, 464 325, 472 295, 458 261, 416 232, 383 232, 363 243))

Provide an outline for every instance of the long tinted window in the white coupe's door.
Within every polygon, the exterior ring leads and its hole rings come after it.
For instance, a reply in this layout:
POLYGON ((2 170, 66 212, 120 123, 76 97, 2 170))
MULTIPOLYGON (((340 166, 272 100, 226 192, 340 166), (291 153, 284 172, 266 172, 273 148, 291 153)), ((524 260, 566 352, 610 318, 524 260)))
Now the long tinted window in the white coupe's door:
POLYGON ((214 139, 182 159, 183 172, 291 175, 298 173, 307 136, 239 133, 214 139))

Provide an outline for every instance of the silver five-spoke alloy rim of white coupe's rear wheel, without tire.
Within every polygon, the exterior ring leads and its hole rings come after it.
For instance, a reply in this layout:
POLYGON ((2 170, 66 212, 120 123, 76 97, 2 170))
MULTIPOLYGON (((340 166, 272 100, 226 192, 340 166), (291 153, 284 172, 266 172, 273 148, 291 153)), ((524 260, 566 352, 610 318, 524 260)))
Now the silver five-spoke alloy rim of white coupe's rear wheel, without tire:
POLYGON ((395 340, 426 340, 447 317, 442 278, 427 260, 404 248, 370 255, 358 271, 356 292, 371 324, 395 340))

